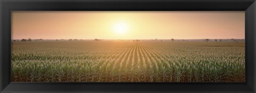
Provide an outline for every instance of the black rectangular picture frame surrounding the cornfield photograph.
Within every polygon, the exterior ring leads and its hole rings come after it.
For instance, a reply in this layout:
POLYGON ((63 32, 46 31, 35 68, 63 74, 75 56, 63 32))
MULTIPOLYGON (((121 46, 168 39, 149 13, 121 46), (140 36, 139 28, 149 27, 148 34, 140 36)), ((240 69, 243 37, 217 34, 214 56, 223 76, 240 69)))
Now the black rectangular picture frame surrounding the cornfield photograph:
POLYGON ((256 91, 255 0, 0 0, 0 92, 256 91), (246 82, 11 82, 11 11, 245 11, 246 82))

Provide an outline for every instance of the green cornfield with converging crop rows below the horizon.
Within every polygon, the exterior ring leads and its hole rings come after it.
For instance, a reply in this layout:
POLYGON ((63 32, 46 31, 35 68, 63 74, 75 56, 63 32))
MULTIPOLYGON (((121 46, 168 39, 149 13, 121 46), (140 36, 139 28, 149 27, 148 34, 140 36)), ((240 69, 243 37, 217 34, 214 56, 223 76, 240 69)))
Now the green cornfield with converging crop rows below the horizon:
POLYGON ((244 42, 12 42, 12 82, 245 82, 244 42))

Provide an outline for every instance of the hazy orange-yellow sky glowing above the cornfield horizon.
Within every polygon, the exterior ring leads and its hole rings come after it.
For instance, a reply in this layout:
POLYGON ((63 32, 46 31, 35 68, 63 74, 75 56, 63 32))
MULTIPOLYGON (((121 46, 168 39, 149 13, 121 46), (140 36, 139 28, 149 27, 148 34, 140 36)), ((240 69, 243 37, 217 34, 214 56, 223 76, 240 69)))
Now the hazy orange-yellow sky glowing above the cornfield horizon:
POLYGON ((13 11, 12 39, 244 39, 244 11, 13 11))

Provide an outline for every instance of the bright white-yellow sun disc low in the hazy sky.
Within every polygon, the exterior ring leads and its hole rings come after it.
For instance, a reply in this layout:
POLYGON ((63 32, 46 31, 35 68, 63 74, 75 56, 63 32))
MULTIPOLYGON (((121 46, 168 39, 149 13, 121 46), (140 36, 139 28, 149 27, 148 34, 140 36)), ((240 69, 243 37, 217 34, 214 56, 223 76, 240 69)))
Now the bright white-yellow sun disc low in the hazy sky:
POLYGON ((119 22, 119 23, 114 24, 113 29, 114 29, 115 33, 117 33, 117 34, 124 34, 127 32, 128 26, 124 22, 119 22))

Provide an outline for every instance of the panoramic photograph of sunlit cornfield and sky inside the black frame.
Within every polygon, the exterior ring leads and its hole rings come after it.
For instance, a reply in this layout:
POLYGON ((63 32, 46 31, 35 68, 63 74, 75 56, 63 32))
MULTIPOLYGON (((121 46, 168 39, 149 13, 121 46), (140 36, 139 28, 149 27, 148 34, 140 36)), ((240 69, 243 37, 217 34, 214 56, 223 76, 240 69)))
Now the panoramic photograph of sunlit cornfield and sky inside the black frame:
POLYGON ((12 11, 11 82, 245 82, 244 11, 12 11))

